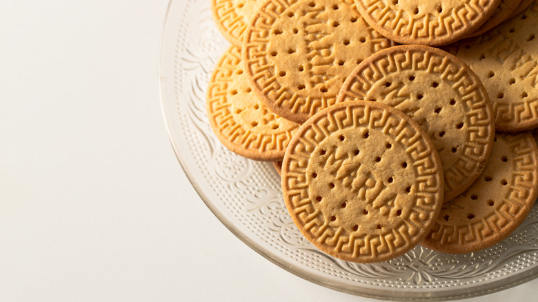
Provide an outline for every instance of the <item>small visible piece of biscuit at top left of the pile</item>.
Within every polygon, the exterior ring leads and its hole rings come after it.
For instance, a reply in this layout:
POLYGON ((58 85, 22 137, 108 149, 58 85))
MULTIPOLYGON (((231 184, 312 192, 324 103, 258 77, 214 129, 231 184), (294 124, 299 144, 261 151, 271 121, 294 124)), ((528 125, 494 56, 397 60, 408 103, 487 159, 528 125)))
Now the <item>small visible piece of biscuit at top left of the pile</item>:
POLYGON ((246 23, 260 2, 261 0, 211 0, 213 20, 226 40, 240 46, 246 23))

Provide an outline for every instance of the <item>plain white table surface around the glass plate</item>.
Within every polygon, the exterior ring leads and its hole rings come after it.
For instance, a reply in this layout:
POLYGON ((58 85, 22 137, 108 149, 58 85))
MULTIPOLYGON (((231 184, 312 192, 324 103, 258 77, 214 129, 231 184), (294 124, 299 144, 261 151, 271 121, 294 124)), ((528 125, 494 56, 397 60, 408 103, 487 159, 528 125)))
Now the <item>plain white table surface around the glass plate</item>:
POLYGON ((1 1, 0 301, 376 301, 270 263, 196 194, 159 101, 167 4, 1 1))

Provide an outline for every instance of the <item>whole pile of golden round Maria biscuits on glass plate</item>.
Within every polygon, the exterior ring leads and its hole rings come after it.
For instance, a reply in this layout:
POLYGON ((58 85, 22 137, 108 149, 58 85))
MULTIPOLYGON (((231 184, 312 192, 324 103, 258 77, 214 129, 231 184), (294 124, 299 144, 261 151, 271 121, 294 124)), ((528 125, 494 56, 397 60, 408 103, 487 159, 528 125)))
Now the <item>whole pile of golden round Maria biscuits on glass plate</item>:
POLYGON ((226 148, 272 161, 303 236, 359 263, 499 243, 537 199, 538 1, 212 0, 226 148), (536 132, 536 130, 535 130, 536 132))

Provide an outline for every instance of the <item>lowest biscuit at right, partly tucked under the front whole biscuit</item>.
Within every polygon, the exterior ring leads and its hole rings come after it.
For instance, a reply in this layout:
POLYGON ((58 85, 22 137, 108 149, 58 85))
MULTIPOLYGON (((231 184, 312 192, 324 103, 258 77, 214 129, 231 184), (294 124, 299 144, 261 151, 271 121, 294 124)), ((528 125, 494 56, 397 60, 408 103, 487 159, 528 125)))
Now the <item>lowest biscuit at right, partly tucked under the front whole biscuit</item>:
POLYGON ((484 250, 510 235, 537 198, 538 148, 530 132, 497 133, 479 179, 445 203, 426 248, 450 254, 484 250))

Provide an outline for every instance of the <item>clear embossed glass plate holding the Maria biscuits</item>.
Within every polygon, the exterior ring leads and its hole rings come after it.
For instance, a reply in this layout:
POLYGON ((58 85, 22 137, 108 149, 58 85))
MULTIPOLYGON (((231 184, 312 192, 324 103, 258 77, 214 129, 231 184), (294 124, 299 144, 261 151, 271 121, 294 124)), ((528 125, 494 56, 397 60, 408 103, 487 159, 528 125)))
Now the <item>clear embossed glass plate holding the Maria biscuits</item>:
POLYGON ((489 294, 538 273, 538 209, 508 239, 481 252, 451 255, 417 246, 374 264, 319 252, 295 228, 271 163, 229 152, 206 117, 206 88, 228 48, 210 1, 172 0, 159 68, 163 114, 177 158, 201 199, 239 239, 281 268, 328 288, 379 299, 458 299, 489 294))

